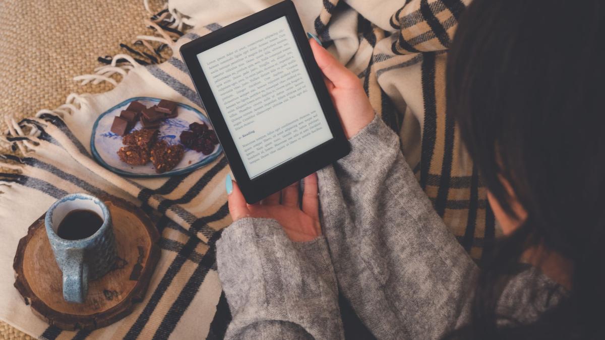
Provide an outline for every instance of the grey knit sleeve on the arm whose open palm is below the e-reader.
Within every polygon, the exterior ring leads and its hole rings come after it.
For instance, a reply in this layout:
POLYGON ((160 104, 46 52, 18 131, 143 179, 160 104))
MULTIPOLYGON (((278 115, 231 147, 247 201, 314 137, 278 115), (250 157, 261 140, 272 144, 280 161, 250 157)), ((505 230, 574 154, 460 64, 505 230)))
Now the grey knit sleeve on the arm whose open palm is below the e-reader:
POLYGON ((227 339, 342 339, 325 238, 294 243, 277 221, 243 218, 217 241, 218 275, 233 316, 227 339))

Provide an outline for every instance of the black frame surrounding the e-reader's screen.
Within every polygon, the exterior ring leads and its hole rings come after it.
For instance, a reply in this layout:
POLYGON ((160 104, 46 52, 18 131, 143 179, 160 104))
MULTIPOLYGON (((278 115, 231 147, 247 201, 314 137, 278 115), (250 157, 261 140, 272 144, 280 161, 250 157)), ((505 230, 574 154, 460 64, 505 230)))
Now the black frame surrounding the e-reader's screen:
POLYGON ((344 131, 342 130, 338 114, 332 104, 330 94, 325 87, 321 70, 319 70, 317 63, 315 62, 313 52, 309 46, 309 41, 307 41, 304 28, 302 28, 301 21, 298 18, 298 13, 296 13, 296 8, 292 1, 282 1, 265 10, 241 19, 240 21, 234 22, 231 25, 227 25, 217 31, 188 42, 180 48, 180 53, 189 70, 189 76, 195 85, 197 93, 206 108, 206 112, 208 113, 212 125, 217 131, 217 136, 223 146, 229 165, 231 165, 231 171, 237 179, 238 186, 240 186, 241 192, 244 194, 248 203, 255 203, 264 197, 285 188, 295 181, 341 159, 350 151, 347 137, 345 137, 344 131), (283 16, 286 17, 290 26, 290 30, 292 31, 292 35, 298 46, 298 51, 302 56, 305 68, 309 74, 313 89, 315 90, 319 104, 324 111, 325 119, 330 127, 330 132, 332 132, 333 139, 250 180, 231 136, 231 132, 229 132, 223 114, 221 114, 221 110, 218 107, 217 100, 212 94, 208 79, 204 76, 204 72, 198 62, 197 54, 283 16))

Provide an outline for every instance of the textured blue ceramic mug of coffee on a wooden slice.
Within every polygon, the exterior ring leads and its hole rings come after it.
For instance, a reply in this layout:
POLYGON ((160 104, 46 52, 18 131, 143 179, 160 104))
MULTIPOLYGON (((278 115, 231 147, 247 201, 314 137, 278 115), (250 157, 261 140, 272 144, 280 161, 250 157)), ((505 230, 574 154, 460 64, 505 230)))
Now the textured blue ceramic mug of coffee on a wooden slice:
MULTIPOLYGON (((87 220, 81 221, 85 223, 87 220)), ((48 209, 44 223, 54 258, 63 272, 63 298, 68 302, 82 303, 88 293, 88 281, 105 275, 116 261, 116 239, 110 211, 99 198, 71 194, 60 198, 48 209), (74 211, 94 212, 102 220, 99 221, 99 229, 88 237, 59 237, 62 234, 58 230, 61 222, 74 211)), ((73 227, 73 235, 77 237, 90 225, 73 227)))

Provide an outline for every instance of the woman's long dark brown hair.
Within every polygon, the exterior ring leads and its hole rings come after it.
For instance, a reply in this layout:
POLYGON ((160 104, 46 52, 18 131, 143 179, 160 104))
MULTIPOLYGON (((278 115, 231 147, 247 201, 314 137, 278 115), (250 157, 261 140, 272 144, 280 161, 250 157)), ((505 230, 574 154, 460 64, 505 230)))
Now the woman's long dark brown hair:
POLYGON ((604 42, 601 0, 474 0, 460 18, 447 114, 506 213, 499 176, 528 212, 482 264, 463 338, 605 338, 604 42), (571 261, 569 297, 533 324, 499 327, 502 287, 538 244, 571 261))

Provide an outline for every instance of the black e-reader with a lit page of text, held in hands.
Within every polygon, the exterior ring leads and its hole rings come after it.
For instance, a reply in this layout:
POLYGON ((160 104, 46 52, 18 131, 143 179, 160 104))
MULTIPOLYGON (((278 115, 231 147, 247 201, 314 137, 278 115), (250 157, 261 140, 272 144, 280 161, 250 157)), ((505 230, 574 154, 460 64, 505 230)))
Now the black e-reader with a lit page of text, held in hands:
POLYGON ((180 52, 248 203, 348 154, 292 1, 188 42, 180 52))

